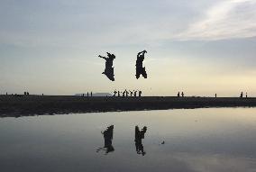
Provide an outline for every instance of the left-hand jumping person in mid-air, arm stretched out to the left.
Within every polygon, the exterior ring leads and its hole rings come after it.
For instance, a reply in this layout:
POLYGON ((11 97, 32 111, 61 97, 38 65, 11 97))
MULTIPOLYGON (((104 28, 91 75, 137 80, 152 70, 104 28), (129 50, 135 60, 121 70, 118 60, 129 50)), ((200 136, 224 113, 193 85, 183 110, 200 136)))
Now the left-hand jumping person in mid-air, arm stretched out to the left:
POLYGON ((114 81, 114 67, 113 67, 113 61, 115 59, 114 54, 110 54, 109 52, 106 52, 107 57, 105 58, 101 55, 99 55, 99 58, 105 59, 105 70, 102 74, 104 74, 106 77, 108 77, 110 80, 114 81))

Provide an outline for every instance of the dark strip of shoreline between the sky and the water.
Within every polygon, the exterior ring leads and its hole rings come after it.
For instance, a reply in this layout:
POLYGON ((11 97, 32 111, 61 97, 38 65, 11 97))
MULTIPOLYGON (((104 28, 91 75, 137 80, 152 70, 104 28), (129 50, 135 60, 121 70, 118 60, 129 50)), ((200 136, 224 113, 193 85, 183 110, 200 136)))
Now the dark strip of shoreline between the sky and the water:
POLYGON ((256 98, 0 95, 0 117, 20 117, 67 113, 194 109, 209 107, 256 107, 256 98))

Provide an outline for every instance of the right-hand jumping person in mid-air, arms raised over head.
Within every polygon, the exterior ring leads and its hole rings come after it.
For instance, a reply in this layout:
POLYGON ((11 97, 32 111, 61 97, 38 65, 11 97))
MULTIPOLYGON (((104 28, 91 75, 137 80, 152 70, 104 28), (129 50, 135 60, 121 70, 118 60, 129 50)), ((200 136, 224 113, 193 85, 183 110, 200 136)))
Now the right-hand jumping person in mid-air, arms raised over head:
POLYGON ((144 60, 144 55, 147 53, 146 50, 142 50, 142 52, 139 52, 137 55, 137 60, 136 60, 136 78, 138 79, 141 75, 144 78, 147 78, 147 72, 146 68, 143 67, 143 60, 144 60))

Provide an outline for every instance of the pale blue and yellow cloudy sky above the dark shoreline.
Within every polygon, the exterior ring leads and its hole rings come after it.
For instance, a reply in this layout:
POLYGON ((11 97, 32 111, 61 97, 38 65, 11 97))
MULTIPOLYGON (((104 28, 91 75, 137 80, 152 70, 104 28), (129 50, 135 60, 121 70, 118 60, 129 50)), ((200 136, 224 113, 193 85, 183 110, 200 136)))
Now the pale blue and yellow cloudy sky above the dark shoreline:
POLYGON ((256 0, 0 0, 1 94, 256 96, 255 64, 256 0))

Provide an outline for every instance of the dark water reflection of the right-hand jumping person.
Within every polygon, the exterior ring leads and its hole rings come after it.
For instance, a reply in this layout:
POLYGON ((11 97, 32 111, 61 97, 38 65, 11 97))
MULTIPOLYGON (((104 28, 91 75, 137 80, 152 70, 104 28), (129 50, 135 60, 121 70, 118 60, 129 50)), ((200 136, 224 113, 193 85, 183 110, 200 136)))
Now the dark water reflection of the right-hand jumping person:
POLYGON ((135 148, 137 154, 142 154, 144 156, 146 152, 144 151, 144 147, 142 145, 142 139, 144 139, 145 133, 147 131, 147 127, 143 127, 142 131, 140 131, 138 126, 135 126, 135 148))

